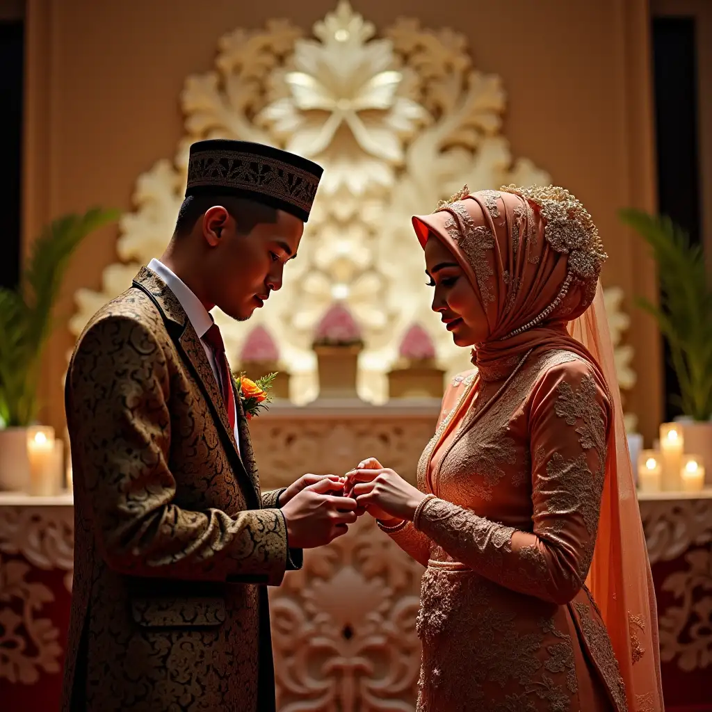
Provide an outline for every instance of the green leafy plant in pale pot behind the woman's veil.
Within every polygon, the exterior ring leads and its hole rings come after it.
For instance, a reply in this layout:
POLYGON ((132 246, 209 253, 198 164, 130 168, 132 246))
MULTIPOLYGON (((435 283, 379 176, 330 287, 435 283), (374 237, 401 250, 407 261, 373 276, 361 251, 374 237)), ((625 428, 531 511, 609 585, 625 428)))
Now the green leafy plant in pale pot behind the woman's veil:
POLYGON ((712 470, 712 285, 700 246, 665 216, 625 209, 625 224, 651 247, 660 281, 660 303, 640 299, 670 347, 680 384, 676 405, 685 450, 704 457, 712 470))

